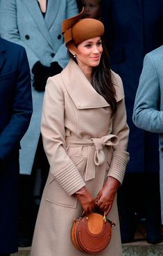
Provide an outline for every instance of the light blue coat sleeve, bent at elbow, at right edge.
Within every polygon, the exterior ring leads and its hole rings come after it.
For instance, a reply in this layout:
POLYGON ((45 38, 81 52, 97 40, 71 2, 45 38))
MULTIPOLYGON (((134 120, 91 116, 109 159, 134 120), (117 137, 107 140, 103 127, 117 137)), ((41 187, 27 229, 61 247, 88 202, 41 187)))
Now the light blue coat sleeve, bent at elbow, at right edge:
POLYGON ((160 81, 152 57, 147 54, 135 98, 133 122, 138 128, 163 133, 163 111, 160 108, 160 81))

